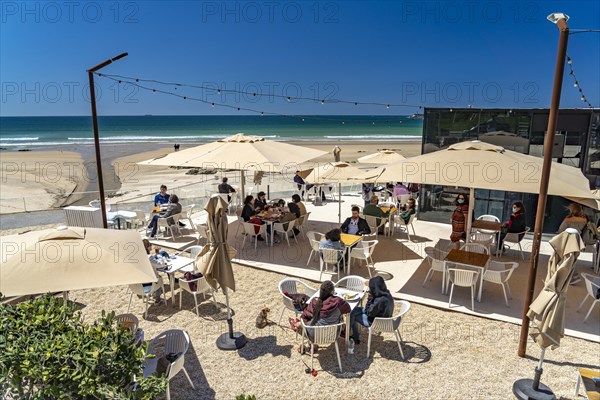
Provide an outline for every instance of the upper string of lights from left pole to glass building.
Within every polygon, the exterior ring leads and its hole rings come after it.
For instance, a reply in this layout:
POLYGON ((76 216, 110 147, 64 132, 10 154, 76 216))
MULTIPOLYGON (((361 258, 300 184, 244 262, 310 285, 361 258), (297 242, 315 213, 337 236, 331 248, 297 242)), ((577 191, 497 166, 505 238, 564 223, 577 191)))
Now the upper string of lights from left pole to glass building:
MULTIPOLYGON (((188 88, 192 88, 192 89, 202 89, 202 90, 210 90, 210 91, 215 91, 217 92, 217 94, 221 94, 221 93, 236 93, 236 94, 243 94, 243 95, 249 95, 249 96, 261 96, 261 97, 269 97, 269 98, 281 98, 284 100, 287 100, 288 102, 293 101, 299 101, 299 100, 304 100, 304 101, 320 101, 321 104, 325 104, 325 102, 327 103, 340 103, 340 104, 354 104, 355 106, 357 105, 370 105, 370 106, 383 106, 385 108, 392 108, 392 107, 415 107, 415 108, 421 108, 421 105, 419 104, 400 104, 400 103, 388 103, 388 102, 377 102, 377 101, 357 101, 357 100, 343 100, 343 99, 321 99, 321 100, 316 100, 315 98, 312 97, 302 97, 302 96, 287 96, 287 95, 278 95, 275 93, 257 93, 257 92, 248 92, 245 90, 236 90, 236 89, 223 89, 223 88, 215 88, 215 87, 211 87, 211 86, 204 86, 204 85, 192 85, 192 84, 187 84, 187 83, 177 83, 177 82, 165 82, 165 81, 160 81, 157 79, 142 79, 142 78, 133 78, 133 77, 129 77, 129 76, 123 76, 123 75, 116 75, 116 74, 112 74, 112 75, 108 75, 108 74, 99 74, 97 73, 98 76, 102 76, 102 77, 106 77, 106 78, 115 78, 117 80, 123 80, 123 81, 135 81, 136 83, 139 82, 144 82, 144 83, 151 83, 151 84, 157 84, 157 85, 167 85, 167 86, 179 86, 179 87, 188 87, 188 88)), ((133 82, 131 82, 133 83, 133 82)))

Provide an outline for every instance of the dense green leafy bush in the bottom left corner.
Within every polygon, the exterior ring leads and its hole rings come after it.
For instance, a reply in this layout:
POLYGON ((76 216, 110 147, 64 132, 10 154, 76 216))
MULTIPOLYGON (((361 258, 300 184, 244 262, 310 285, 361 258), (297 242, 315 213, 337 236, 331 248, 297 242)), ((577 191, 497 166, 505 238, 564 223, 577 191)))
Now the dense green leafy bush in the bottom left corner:
POLYGON ((0 398, 152 399, 163 393, 163 377, 143 378, 146 343, 136 347, 131 331, 113 319, 114 312, 103 311, 86 324, 75 305, 52 296, 0 305, 0 398))

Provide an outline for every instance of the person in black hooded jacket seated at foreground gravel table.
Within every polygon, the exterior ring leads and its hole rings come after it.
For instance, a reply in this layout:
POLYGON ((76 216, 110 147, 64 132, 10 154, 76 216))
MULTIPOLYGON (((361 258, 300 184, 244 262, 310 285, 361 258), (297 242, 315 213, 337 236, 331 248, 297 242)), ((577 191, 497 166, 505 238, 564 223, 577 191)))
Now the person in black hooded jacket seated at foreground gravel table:
POLYGON ((360 343, 360 331, 358 324, 369 327, 377 317, 390 318, 394 313, 394 299, 380 276, 369 280, 369 298, 367 305, 356 307, 350 314, 350 326, 352 327, 352 339, 354 343, 360 343))

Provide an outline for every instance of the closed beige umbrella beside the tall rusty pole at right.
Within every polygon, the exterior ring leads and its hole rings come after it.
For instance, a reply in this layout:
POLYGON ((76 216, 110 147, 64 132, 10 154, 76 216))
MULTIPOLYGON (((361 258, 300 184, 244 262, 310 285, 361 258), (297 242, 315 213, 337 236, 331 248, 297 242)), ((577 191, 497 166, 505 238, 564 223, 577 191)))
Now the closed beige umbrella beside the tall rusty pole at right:
POLYGON ((575 261, 585 248, 579 233, 572 228, 554 236, 549 243, 552 246, 552 255, 548 262, 544 288, 531 303, 527 313, 536 328, 531 337, 540 346, 542 353, 534 379, 519 379, 513 385, 513 392, 521 398, 537 398, 533 395, 537 396, 538 392, 545 395, 552 393, 547 386, 540 383, 544 354, 548 347, 555 349, 560 346, 560 340, 564 336, 567 290, 573 276, 575 261))

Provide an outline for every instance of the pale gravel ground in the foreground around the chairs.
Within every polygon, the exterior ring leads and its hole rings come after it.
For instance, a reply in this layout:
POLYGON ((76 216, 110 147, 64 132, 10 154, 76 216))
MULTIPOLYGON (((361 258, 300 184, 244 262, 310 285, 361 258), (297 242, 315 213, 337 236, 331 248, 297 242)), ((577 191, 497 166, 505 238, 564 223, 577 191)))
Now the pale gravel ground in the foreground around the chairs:
MULTIPOLYGON (((299 343, 287 326, 291 313, 284 313, 283 326, 275 325, 282 309, 277 285, 283 276, 241 265, 234 269, 238 289, 230 295, 234 326, 249 339, 239 351, 221 351, 215 346, 217 337, 227 330, 222 293, 217 294, 219 309, 207 300, 199 307, 200 316, 193 312, 193 299, 187 293, 182 310, 174 308, 168 287, 168 304, 150 306, 148 319, 142 318, 142 302, 132 301, 131 312, 140 318, 146 339, 173 328, 190 334, 192 345, 185 366, 196 390, 180 373, 171 381, 174 400, 234 399, 242 393, 258 399, 508 399, 513 398, 516 379, 533 377, 540 351, 530 342, 528 357, 516 355, 517 325, 419 304, 412 304, 401 325, 405 360, 392 334, 374 336, 367 359, 367 333, 363 331, 353 355, 346 354, 340 341, 343 373, 338 371, 331 346, 316 354, 318 375, 313 377, 304 372, 310 356, 297 352, 299 343), (261 330, 255 320, 265 306, 271 309, 269 317, 275 324, 261 330)), ((126 287, 111 287, 74 291, 70 299, 80 303, 84 317, 92 320, 102 310, 127 312, 129 294, 126 287)), ((576 398, 577 368, 598 369, 599 365, 598 343, 565 337, 558 349, 547 351, 542 382, 557 398, 576 398)))

